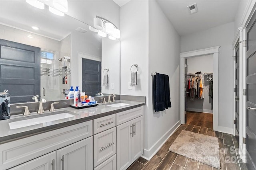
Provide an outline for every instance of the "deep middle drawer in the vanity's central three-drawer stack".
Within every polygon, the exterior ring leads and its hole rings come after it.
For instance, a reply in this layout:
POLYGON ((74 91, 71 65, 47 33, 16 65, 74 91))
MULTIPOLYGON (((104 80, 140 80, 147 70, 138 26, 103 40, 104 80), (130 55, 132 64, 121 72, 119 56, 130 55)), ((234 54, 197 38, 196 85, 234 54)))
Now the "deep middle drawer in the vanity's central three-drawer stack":
POLYGON ((94 168, 116 154, 116 127, 93 136, 94 168))

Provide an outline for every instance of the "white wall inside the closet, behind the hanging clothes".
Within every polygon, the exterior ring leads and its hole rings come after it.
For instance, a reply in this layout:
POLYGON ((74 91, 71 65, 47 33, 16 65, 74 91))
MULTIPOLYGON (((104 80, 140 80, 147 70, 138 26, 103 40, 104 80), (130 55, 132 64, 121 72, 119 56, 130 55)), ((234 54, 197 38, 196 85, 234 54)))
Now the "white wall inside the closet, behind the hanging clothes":
MULTIPOLYGON (((187 59, 188 73, 196 73, 201 71, 202 74, 206 72, 213 72, 213 55, 204 55, 200 57, 193 57, 187 59)), ((206 79, 207 76, 204 76, 206 79)), ((209 97, 209 82, 204 81, 204 99, 194 98, 190 101, 188 97, 188 111, 199 111, 205 113, 212 113, 212 98, 209 97)))

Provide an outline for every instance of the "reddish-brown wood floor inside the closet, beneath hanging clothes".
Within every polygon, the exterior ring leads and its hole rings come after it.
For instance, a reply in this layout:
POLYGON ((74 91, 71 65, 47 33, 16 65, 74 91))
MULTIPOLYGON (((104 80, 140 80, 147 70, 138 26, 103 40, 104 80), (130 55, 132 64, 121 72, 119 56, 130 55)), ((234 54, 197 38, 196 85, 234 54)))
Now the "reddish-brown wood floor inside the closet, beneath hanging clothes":
POLYGON ((212 129, 212 113, 187 111, 187 124, 207 127, 212 129))

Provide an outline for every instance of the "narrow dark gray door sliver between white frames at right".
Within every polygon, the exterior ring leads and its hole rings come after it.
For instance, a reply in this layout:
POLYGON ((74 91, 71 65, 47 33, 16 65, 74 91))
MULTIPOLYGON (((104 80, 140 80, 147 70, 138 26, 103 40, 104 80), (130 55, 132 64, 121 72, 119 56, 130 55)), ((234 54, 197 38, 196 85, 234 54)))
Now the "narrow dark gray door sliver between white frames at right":
POLYGON ((236 125, 236 140, 239 142, 239 42, 236 44, 236 96, 235 96, 235 103, 236 103, 236 109, 235 109, 235 125, 236 125))

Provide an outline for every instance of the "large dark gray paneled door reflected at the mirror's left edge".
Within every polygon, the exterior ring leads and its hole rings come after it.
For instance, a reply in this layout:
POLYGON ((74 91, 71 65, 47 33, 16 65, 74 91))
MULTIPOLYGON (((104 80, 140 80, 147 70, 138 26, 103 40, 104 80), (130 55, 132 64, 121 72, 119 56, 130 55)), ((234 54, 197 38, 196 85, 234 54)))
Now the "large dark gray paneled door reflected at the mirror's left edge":
POLYGON ((0 39, 0 92, 5 89, 10 103, 40 96, 40 48, 0 39))

